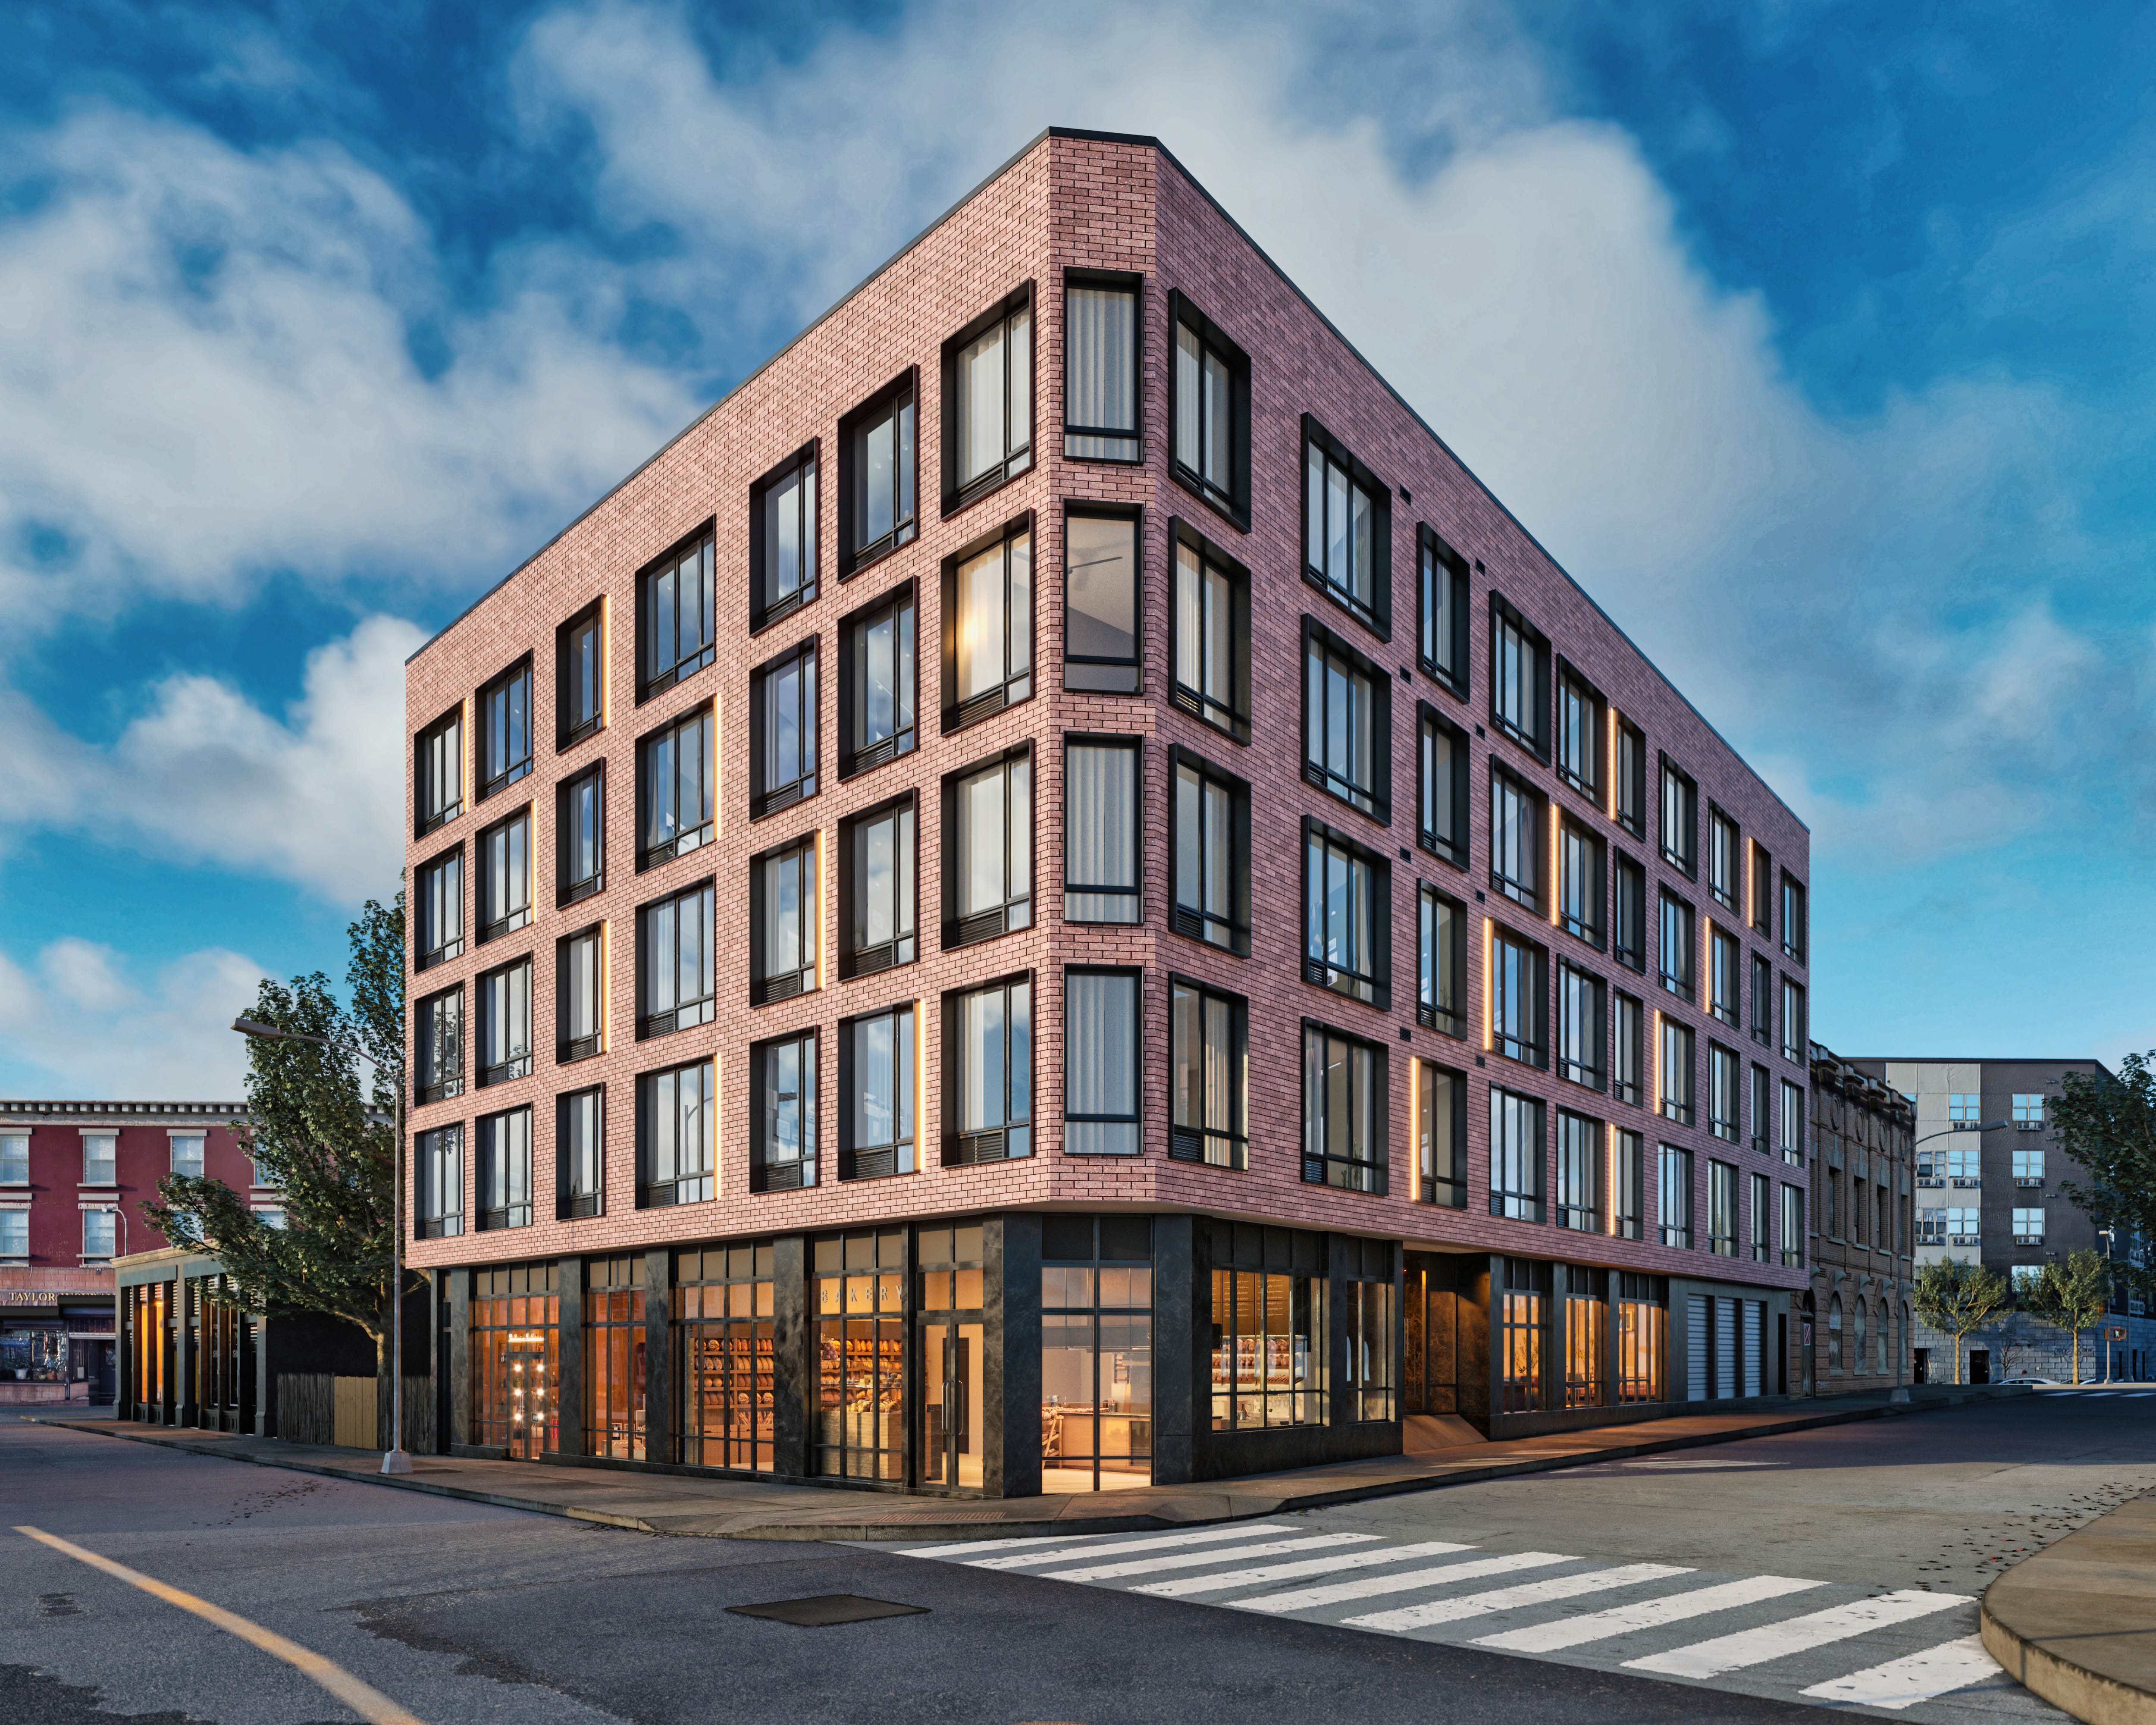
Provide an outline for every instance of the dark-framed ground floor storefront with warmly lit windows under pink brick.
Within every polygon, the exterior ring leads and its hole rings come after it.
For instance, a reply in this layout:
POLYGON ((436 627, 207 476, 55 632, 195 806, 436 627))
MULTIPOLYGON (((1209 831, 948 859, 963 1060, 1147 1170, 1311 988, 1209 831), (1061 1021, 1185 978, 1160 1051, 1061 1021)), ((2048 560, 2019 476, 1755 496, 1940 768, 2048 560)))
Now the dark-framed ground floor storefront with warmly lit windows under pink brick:
MULTIPOLYGON (((1729 1264, 1731 1272, 1740 1266, 1729 1264)), ((1031 1496, 1787 1395, 1789 1296, 1192 1214, 431 1272, 451 1453, 1031 1496)))

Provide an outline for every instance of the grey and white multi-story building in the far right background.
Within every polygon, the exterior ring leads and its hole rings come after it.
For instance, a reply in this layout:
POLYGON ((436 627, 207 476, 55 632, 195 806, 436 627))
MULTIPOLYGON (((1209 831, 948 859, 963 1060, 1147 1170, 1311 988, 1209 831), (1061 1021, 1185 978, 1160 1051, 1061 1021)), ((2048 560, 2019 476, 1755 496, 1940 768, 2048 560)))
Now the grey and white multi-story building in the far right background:
MULTIPOLYGON (((2048 1259, 2100 1251, 2139 1264, 2145 1242, 2087 1216, 2059 1190, 2087 1184, 2078 1162, 2053 1141, 2048 1106, 2068 1072, 2109 1074, 2102 1061, 1943 1061, 1861 1059, 1917 1110, 1917 1266, 1958 1257, 1986 1264, 2012 1283, 2035 1276, 2048 1259)), ((2156 1324, 2126 1276, 2117 1279, 2104 1330, 2081 1337, 2081 1376, 2143 1378, 2156 1365, 2156 1324)), ((1921 1320, 1912 1330, 1917 1382, 1953 1378, 1953 1337, 1921 1320)), ((1964 1339, 1973 1382, 2059 1378, 2072 1371, 2072 1339, 2027 1311, 2009 1311, 1964 1339)))

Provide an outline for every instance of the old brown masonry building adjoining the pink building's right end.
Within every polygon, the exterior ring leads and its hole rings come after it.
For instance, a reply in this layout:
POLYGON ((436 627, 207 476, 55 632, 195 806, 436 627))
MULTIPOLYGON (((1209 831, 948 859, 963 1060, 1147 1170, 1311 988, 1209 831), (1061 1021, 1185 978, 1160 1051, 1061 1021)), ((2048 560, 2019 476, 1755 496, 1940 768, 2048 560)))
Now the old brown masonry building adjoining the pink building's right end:
POLYGON ((1917 1106, 1811 1044, 1811 1289, 1792 1380, 1805 1395, 1910 1382, 1917 1106))

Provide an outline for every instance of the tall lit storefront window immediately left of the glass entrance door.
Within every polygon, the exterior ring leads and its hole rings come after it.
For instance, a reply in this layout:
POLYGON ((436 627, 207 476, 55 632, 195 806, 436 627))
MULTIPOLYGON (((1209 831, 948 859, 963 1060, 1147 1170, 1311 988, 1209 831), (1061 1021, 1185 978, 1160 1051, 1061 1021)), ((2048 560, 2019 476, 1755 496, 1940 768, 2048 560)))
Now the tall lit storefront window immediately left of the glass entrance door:
MULTIPOLYGON (((949 1229, 942 1233, 949 1236, 949 1229)), ((817 1240, 815 1311, 815 1471, 841 1479, 903 1481, 906 1231, 817 1240)))

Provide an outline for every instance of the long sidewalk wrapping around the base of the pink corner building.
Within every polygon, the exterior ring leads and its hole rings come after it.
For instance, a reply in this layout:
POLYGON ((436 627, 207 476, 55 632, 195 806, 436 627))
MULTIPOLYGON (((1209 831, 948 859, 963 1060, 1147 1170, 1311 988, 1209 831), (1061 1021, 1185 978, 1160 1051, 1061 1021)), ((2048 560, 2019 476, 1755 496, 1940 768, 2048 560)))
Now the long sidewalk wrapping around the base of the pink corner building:
POLYGON ((1680 1414, 1509 1443, 1457 1443, 1425 1453, 1337 1462, 1322 1468, 1263 1473, 1203 1486, 1024 1499, 938 1499, 606 1466, 472 1462, 451 1455, 414 1455, 412 1473, 382 1475, 375 1473, 382 1464, 379 1453, 367 1449, 295 1445, 276 1438, 110 1419, 30 1414, 24 1419, 185 1449, 196 1455, 224 1455, 235 1462, 259 1462, 332 1479, 360 1479, 405 1492, 436 1492, 472 1503, 496 1503, 507 1509, 537 1509, 645 1533, 720 1540, 990 1540, 1022 1533, 1123 1533, 1244 1516, 1279 1516, 1287 1509, 1315 1509, 1328 1503, 1423 1492, 1475 1479, 1617 1462, 1628 1455, 1692 1449, 1736 1438, 1766 1438, 1856 1419, 1897 1419, 1960 1402, 2027 1393, 2005 1386, 1953 1389, 1936 1384, 1908 1391, 1908 1402, 1891 1402, 1884 1391, 1811 1402, 1777 1399, 1736 1412, 1680 1414))

